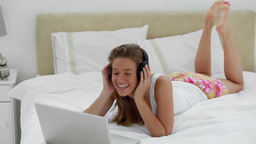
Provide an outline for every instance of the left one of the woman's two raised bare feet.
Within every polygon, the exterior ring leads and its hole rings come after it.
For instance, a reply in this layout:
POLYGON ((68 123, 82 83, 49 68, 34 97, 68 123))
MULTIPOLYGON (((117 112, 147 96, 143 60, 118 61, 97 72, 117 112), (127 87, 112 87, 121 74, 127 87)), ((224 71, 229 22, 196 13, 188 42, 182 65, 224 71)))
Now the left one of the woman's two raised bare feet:
POLYGON ((217 17, 219 16, 219 8, 220 6, 224 5, 225 1, 217 1, 215 3, 213 3, 212 7, 210 8, 210 10, 208 10, 206 17, 205 17, 205 22, 206 24, 210 24, 213 26, 214 20, 217 19, 217 17))

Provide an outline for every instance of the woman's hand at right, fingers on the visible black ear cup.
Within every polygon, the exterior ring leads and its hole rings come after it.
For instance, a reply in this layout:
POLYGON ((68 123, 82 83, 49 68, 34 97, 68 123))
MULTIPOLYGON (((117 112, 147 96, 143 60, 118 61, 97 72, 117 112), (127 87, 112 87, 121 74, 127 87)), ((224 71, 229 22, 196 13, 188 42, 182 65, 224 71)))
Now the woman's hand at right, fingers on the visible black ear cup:
POLYGON ((143 68, 141 71, 141 80, 139 81, 139 85, 137 86, 135 93, 133 95, 134 100, 144 99, 144 94, 147 89, 150 87, 151 83, 151 69, 148 65, 143 68))

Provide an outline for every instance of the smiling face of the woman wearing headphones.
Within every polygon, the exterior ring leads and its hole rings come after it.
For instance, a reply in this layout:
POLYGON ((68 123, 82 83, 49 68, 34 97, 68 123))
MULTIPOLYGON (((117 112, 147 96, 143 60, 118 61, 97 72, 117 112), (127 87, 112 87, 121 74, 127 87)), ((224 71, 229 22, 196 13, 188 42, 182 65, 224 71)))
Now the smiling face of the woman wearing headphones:
POLYGON ((132 59, 118 57, 112 63, 112 82, 120 96, 133 98, 138 86, 137 65, 132 59))

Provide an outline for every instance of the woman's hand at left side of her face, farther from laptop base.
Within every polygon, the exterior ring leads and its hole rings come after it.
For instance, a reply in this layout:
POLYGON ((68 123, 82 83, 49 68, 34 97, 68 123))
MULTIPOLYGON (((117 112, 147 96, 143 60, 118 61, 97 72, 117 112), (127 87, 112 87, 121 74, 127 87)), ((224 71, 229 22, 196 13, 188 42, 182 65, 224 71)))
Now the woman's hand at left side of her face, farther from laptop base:
POLYGON ((114 92, 115 88, 113 86, 112 80, 110 80, 109 76, 108 76, 109 66, 110 66, 110 63, 107 64, 101 70, 101 74, 102 74, 102 77, 103 77, 103 91, 107 92, 108 94, 111 95, 114 92))

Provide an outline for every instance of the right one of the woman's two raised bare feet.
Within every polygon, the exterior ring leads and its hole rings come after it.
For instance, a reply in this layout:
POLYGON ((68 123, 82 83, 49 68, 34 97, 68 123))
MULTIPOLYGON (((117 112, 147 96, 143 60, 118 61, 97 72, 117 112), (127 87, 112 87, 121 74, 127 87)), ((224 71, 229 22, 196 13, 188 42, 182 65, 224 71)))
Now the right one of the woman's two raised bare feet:
POLYGON ((224 34, 228 29, 230 3, 225 3, 219 7, 220 21, 217 23, 216 29, 220 34, 224 34))

